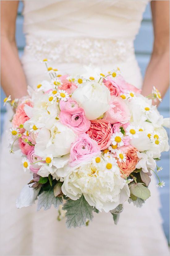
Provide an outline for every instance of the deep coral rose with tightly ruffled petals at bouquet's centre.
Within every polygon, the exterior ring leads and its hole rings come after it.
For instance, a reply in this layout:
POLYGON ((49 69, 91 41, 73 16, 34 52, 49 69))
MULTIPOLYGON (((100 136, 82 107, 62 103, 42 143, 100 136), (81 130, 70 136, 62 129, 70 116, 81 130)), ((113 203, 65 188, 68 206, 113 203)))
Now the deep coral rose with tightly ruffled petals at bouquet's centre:
POLYGON ((100 150, 108 148, 112 143, 110 140, 113 134, 112 126, 105 119, 91 120, 90 128, 86 133, 97 142, 100 150))

